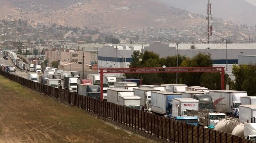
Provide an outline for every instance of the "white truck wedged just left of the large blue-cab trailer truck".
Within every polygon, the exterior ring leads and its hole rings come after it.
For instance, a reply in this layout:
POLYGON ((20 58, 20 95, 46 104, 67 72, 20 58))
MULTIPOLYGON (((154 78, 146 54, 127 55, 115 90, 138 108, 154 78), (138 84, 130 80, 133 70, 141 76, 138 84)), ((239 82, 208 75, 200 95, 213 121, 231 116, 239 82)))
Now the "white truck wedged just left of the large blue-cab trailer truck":
POLYGON ((144 106, 146 112, 150 112, 151 92, 160 91, 151 88, 133 88, 134 95, 141 97, 141 105, 144 106))

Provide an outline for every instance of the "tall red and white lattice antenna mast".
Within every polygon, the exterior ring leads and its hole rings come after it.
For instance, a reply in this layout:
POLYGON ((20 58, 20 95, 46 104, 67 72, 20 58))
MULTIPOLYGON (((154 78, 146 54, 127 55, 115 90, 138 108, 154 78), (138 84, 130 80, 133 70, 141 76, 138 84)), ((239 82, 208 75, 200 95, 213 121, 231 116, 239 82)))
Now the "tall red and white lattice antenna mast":
POLYGON ((213 26, 211 25, 211 20, 213 19, 212 17, 212 13, 211 13, 211 0, 208 0, 208 5, 207 5, 207 17, 206 17, 207 21, 208 21, 208 24, 207 24, 207 27, 206 27, 206 35, 207 35, 207 43, 211 43, 211 37, 213 36, 212 35, 212 32, 213 32, 213 26))

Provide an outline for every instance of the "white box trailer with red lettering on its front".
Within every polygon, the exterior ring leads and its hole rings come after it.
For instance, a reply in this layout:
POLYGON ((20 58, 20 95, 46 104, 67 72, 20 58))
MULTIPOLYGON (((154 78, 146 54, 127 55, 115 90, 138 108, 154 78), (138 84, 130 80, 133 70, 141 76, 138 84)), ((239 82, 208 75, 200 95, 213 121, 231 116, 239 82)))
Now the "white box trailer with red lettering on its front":
POLYGON ((186 109, 198 110, 199 101, 193 98, 173 98, 172 99, 172 118, 186 115, 186 109))

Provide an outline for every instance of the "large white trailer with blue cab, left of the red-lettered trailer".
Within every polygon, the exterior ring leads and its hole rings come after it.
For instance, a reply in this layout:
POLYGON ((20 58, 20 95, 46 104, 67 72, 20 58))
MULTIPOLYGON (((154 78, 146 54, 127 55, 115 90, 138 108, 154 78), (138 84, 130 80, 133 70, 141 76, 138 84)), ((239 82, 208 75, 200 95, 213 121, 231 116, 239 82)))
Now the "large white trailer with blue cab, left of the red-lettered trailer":
POLYGON ((173 98, 182 98, 182 94, 174 92, 152 91, 150 104, 151 112, 160 116, 172 116, 173 98))

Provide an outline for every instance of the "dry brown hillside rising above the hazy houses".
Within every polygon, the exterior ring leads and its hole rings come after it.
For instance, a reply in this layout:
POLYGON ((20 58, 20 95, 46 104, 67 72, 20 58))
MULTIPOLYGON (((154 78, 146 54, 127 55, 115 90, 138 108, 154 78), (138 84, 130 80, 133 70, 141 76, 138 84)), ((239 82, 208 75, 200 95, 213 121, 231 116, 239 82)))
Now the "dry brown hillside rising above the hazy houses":
POLYGON ((198 15, 155 0, 1 0, 0 18, 27 19, 29 23, 57 23, 103 31, 177 28, 201 23, 198 15))

